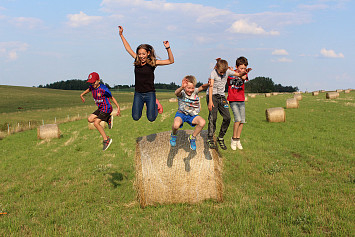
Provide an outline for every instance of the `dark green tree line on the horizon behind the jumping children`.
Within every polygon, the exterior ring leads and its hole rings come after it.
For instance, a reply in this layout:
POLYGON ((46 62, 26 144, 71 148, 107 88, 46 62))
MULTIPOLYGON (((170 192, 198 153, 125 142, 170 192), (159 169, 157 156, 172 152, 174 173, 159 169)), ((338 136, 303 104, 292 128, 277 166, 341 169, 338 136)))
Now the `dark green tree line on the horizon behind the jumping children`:
MULTIPOLYGON (((134 88, 134 85, 114 85, 111 87, 109 84, 104 83, 109 89, 130 89, 134 88)), ((198 82, 196 87, 201 86, 203 83, 198 82)), ((169 84, 155 83, 156 89, 164 90, 176 90, 180 85, 176 85, 175 82, 169 84)), ((61 89, 61 90, 86 90, 89 84, 86 80, 72 79, 67 81, 58 81, 46 85, 39 85, 39 88, 61 89)), ((227 86, 226 86, 227 91, 227 86)), ((298 87, 282 86, 281 84, 275 84, 269 77, 256 77, 245 83, 245 92, 250 93, 268 93, 268 92, 295 92, 298 91, 298 87)))

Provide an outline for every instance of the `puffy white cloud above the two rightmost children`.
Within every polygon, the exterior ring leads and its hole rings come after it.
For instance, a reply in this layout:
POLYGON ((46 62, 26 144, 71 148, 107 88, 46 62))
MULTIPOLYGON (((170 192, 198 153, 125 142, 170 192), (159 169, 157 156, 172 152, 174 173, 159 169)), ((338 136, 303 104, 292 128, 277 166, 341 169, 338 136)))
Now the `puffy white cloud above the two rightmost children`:
POLYGON ((278 31, 267 32, 261 26, 256 23, 249 23, 245 20, 238 20, 232 24, 232 26, 227 29, 231 33, 238 34, 251 34, 251 35, 279 35, 278 31))

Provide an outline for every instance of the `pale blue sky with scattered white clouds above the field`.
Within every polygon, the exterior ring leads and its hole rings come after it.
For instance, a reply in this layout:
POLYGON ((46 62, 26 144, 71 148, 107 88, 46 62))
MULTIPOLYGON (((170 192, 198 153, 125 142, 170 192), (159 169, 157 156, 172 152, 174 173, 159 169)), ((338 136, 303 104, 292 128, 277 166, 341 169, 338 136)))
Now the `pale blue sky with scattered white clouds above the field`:
POLYGON ((38 86, 86 79, 96 71, 111 86, 134 84, 132 48, 151 44, 161 59, 169 40, 175 63, 157 83, 185 75, 207 82, 221 57, 239 56, 249 78, 270 77, 302 91, 355 88, 351 0, 0 0, 0 84, 38 86))

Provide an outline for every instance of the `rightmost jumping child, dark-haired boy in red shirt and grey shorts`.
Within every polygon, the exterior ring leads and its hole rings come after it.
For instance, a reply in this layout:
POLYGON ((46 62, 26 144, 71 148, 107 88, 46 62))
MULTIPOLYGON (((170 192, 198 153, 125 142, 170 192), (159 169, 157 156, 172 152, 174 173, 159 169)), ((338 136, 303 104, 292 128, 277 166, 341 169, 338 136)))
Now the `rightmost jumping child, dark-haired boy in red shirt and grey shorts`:
MULTIPOLYGON (((248 73, 252 69, 247 68, 248 59, 239 57, 236 60, 236 72, 248 73)), ((240 135, 242 133, 243 124, 245 123, 245 96, 244 96, 244 82, 248 80, 248 74, 242 77, 231 76, 228 77, 228 97, 229 105, 234 114, 233 137, 231 139, 232 150, 243 149, 240 143, 240 135)))

